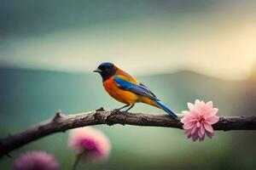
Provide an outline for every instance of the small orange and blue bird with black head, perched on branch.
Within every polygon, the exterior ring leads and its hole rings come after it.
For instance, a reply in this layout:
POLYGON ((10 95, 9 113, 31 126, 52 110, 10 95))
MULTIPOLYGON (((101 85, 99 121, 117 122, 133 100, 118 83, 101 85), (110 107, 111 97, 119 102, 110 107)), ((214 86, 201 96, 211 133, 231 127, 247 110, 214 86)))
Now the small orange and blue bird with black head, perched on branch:
POLYGON ((142 82, 138 82, 135 78, 131 77, 127 72, 113 65, 113 63, 103 62, 98 65, 94 72, 101 75, 105 91, 113 97, 113 99, 125 104, 114 111, 120 111, 127 107, 129 108, 125 111, 129 111, 136 103, 141 102, 160 108, 174 119, 177 119, 177 115, 164 105, 149 88, 142 82))

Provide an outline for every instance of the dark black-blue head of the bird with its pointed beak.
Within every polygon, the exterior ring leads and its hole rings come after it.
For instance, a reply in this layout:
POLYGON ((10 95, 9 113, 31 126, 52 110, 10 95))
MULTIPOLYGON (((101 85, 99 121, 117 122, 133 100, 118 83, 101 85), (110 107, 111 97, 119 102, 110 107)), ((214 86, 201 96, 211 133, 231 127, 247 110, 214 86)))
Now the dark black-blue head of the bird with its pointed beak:
POLYGON ((116 71, 118 71, 118 68, 115 65, 105 62, 99 65, 94 72, 100 73, 102 80, 105 81, 109 77, 112 77, 116 71))

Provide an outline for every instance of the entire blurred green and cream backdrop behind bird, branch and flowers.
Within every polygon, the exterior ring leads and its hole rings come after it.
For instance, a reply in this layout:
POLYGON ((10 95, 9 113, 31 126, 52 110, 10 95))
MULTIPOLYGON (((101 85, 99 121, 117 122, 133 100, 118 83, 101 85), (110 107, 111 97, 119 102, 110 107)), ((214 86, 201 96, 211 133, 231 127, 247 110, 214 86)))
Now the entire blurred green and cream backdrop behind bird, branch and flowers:
MULTIPOLYGON (((173 111, 212 100, 219 116, 255 115, 255 1, 0 0, 0 138, 64 113, 122 104, 91 71, 111 61, 150 88, 173 111)), ((138 104, 132 112, 163 113, 138 104)), ((96 126, 112 143, 109 161, 79 169, 254 169, 253 131, 216 132, 192 142, 165 127, 96 126)), ((66 133, 21 152, 47 150, 61 169, 74 154, 66 133)))

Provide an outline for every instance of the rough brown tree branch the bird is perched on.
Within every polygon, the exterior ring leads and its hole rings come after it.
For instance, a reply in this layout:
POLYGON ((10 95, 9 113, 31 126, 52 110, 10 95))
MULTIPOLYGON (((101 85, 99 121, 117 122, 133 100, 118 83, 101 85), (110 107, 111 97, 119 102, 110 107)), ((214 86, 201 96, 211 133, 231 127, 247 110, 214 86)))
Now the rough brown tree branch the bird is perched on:
MULTIPOLYGON (((182 129, 181 122, 168 115, 150 115, 143 113, 115 112, 111 114, 102 108, 96 111, 76 115, 62 115, 61 111, 49 121, 38 123, 24 132, 0 140, 0 157, 9 155, 11 150, 40 139, 51 133, 65 132, 76 127, 85 127, 99 124, 128 124, 150 127, 174 127, 182 129)), ((215 130, 256 130, 256 116, 222 116, 219 122, 213 125, 215 130)))

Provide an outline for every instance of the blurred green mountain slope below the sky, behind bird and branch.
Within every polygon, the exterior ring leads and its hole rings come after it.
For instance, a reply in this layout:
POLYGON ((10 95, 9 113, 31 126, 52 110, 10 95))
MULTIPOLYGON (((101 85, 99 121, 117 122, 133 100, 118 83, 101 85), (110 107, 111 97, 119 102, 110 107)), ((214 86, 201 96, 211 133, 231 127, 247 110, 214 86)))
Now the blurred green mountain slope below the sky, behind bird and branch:
MULTIPOLYGON (((92 72, 68 73, 1 68, 0 78, 0 137, 16 133, 52 117, 57 109, 71 114, 92 111, 102 106, 107 110, 121 106, 104 92, 101 77, 92 72)), ((250 79, 227 81, 193 71, 177 71, 137 79, 176 112, 186 110, 186 103, 194 102, 195 99, 212 100, 218 107, 220 116, 252 115, 256 110, 256 86, 250 79)), ((143 104, 136 105, 131 111, 163 113, 143 104)), ((113 153, 108 165, 93 166, 93 169, 166 169, 168 166, 239 169, 254 162, 253 150, 256 148, 252 146, 255 137, 253 133, 219 132, 216 133, 215 140, 195 144, 185 139, 183 133, 176 129, 131 126, 99 128, 111 139, 113 153), (237 134, 242 138, 237 138, 237 134), (173 144, 180 144, 181 147, 174 149, 170 147, 173 144), (234 147, 240 149, 233 150, 234 147), (198 153, 198 150, 201 152, 198 153), (211 159, 207 157, 209 153, 211 159), (239 157, 235 164, 233 155, 239 157), (252 159, 249 159, 250 157, 252 159), (213 158, 214 161, 210 161, 213 158), (180 159, 183 159, 183 163, 180 159), (141 163, 138 164, 138 160, 141 163)), ((28 144, 15 152, 15 156, 22 150, 38 149, 54 153, 65 167, 72 164, 70 158, 73 160, 74 156, 67 150, 67 133, 55 134, 28 144), (55 146, 55 143, 58 143, 58 146, 55 146)), ((11 161, 6 159, 0 161, 0 164, 9 167, 11 161)))

